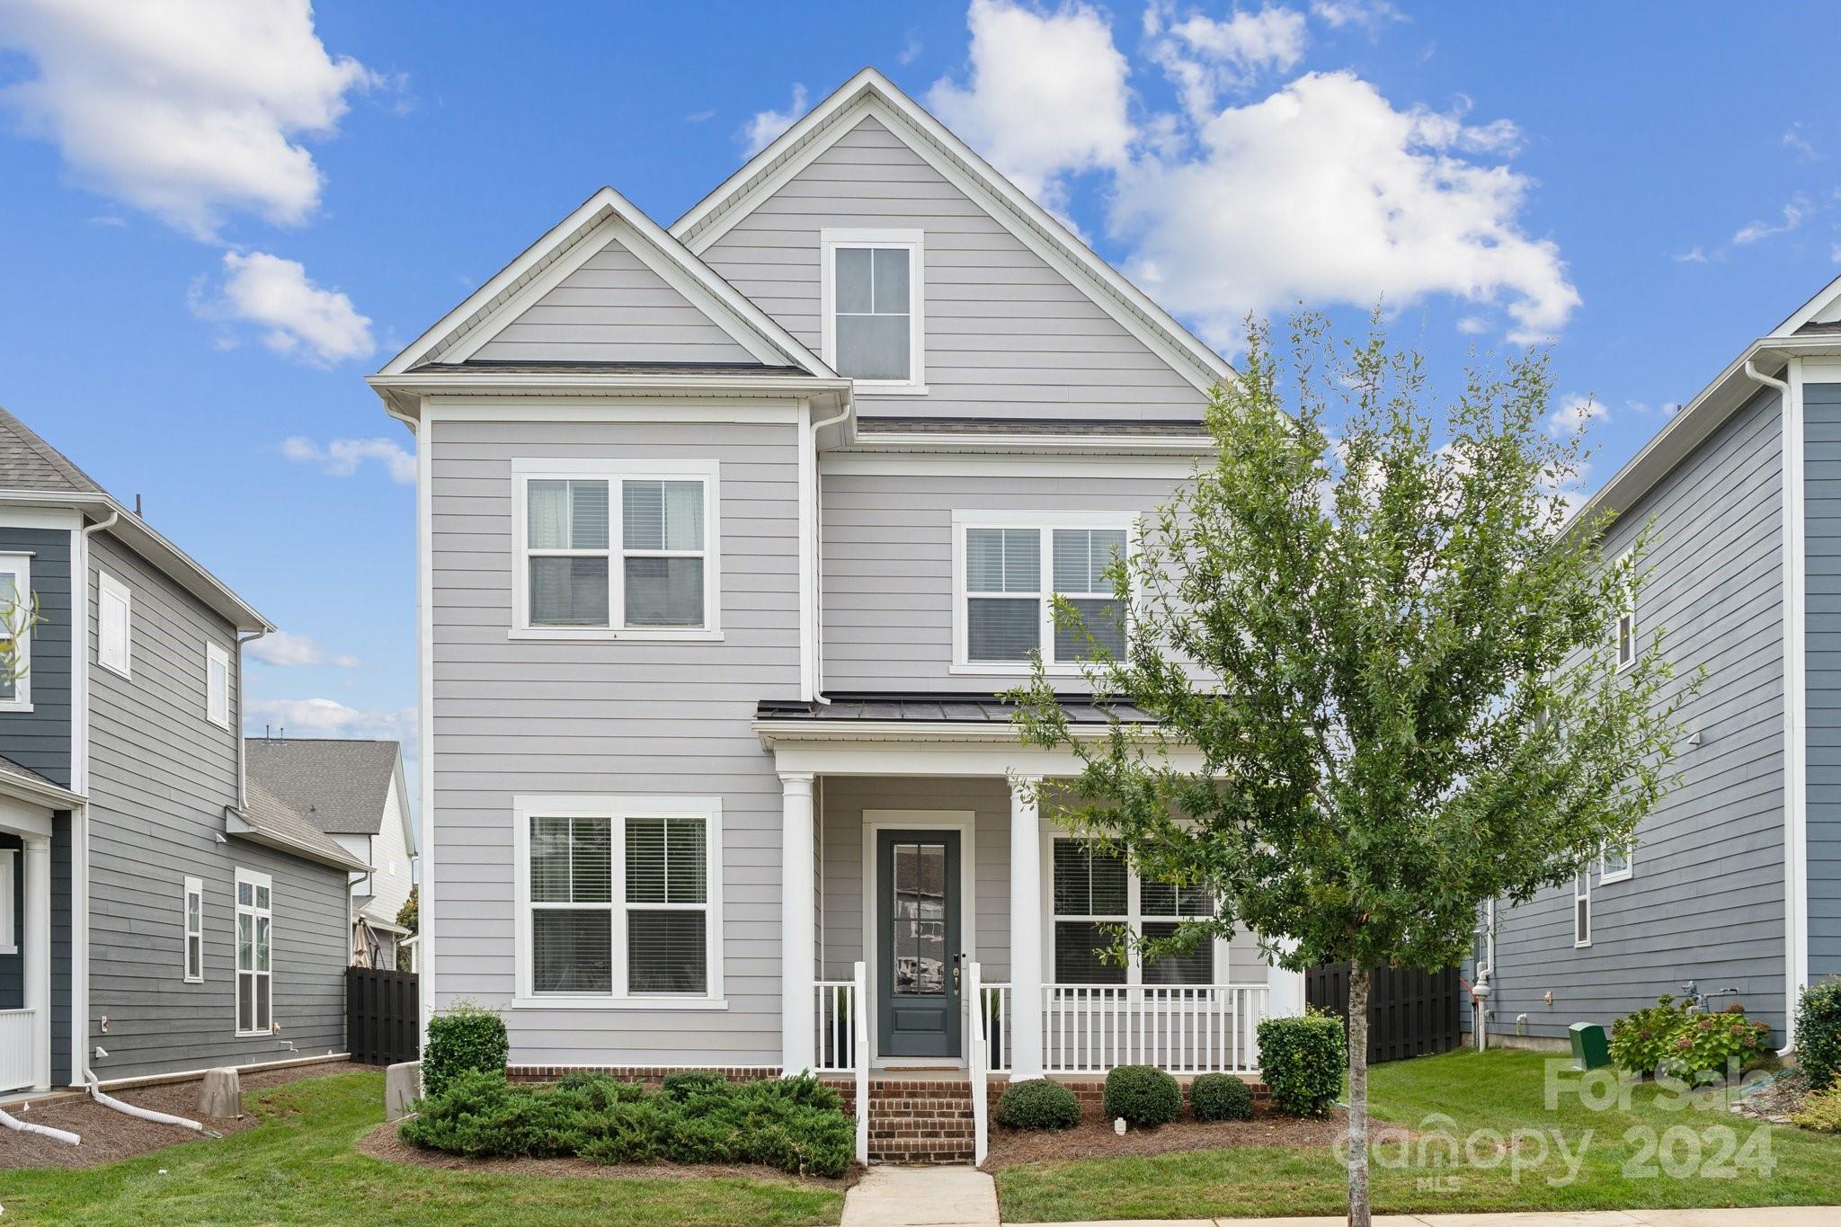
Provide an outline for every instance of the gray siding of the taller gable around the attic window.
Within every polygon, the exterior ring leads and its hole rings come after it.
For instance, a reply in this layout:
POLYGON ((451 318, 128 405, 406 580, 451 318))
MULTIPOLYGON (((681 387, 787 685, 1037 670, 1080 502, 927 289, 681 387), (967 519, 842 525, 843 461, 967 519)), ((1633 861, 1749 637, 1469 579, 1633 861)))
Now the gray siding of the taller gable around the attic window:
POLYGON ((863 416, 1200 418, 1206 397, 874 118, 701 252, 814 353, 819 232, 926 232, 928 396, 856 397, 863 416))

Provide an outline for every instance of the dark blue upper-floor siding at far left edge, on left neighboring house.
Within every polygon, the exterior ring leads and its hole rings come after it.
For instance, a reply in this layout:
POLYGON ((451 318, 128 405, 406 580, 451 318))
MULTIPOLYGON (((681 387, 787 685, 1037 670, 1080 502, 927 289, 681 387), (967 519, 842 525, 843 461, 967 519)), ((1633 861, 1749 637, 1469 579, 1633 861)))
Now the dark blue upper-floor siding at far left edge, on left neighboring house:
POLYGON ((70 530, 0 528, 0 554, 31 554, 31 710, 0 712, 0 754, 70 786, 70 530))

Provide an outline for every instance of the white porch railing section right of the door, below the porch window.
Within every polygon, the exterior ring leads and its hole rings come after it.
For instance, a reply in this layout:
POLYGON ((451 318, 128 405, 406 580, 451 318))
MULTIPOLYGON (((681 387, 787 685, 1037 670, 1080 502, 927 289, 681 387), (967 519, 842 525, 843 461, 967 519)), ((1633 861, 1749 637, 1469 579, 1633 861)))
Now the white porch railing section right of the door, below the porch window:
POLYGON ((1105 1074, 1116 1065, 1252 1074, 1267 992, 1265 984, 1044 984, 1042 1065, 1051 1074, 1105 1074))

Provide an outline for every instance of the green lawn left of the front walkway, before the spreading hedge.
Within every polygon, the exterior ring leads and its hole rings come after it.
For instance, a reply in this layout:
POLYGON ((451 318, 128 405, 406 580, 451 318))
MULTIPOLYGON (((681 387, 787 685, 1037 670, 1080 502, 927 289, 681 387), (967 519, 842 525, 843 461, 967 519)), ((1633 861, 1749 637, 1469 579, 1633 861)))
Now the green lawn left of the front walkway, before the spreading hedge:
POLYGON ((265 1120, 85 1172, 0 1172, 13 1221, 83 1223, 836 1223, 843 1194, 792 1179, 471 1175, 355 1150, 383 1120, 383 1074, 250 1095, 265 1120), (160 1175, 166 1168, 166 1175, 160 1175))

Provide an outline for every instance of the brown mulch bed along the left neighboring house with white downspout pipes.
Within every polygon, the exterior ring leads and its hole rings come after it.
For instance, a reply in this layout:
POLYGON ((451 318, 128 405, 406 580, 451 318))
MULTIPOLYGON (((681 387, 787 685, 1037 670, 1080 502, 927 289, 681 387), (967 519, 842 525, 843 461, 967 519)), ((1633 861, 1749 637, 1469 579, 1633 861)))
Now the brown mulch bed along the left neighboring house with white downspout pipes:
MULTIPOLYGON (((239 1133, 241 1130, 254 1128, 261 1122, 261 1118, 256 1117, 256 1113, 247 1106, 250 1091, 263 1091, 267 1087, 278 1087, 302 1078, 326 1078, 331 1074, 353 1072, 376 1072, 376 1069, 370 1065, 353 1065, 352 1061, 326 1061, 320 1065, 293 1065, 289 1069, 261 1069, 247 1072, 239 1078, 245 1096, 243 1115, 232 1118, 199 1117, 197 1078, 188 1082, 168 1082, 156 1087, 105 1093, 123 1104, 134 1104, 136 1107, 151 1107, 153 1111, 164 1111, 173 1117, 199 1120, 206 1130, 215 1133, 239 1133)), ((129 1117, 127 1113, 120 1113, 112 1107, 103 1107, 90 1098, 48 1104, 33 1107, 31 1111, 22 1111, 18 1107, 9 1107, 7 1111, 17 1120, 24 1120, 28 1124, 48 1124, 55 1130, 70 1130, 83 1139, 83 1144, 66 1146, 64 1142, 52 1141, 50 1137, 15 1133, 13 1130, 0 1128, 0 1172, 9 1168, 94 1168, 103 1163, 145 1155, 147 1152, 175 1146, 179 1142, 210 1141, 199 1139, 197 1133, 182 1130, 177 1124, 140 1120, 138 1117, 129 1117)))

